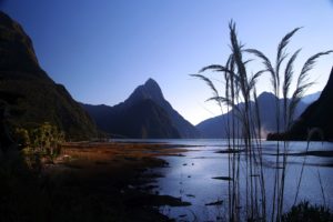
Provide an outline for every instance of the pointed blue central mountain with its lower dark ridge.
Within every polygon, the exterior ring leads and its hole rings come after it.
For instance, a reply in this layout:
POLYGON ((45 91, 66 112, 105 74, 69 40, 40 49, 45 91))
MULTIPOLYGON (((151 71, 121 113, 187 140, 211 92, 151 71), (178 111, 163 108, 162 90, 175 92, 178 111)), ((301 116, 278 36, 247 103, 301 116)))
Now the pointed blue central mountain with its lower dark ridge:
POLYGON ((164 99, 159 84, 149 79, 114 107, 82 107, 104 132, 127 138, 199 138, 198 130, 164 99))

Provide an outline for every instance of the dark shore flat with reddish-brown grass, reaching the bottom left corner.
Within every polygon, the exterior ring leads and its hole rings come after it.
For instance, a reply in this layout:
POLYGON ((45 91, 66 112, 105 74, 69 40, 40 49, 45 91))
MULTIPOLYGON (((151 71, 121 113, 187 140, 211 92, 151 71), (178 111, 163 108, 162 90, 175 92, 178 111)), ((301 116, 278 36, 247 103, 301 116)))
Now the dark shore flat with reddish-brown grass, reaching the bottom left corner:
POLYGON ((169 221, 159 205, 184 205, 178 199, 152 193, 167 167, 158 155, 182 150, 165 144, 67 143, 54 164, 31 171, 23 157, 1 164, 1 221, 169 221))

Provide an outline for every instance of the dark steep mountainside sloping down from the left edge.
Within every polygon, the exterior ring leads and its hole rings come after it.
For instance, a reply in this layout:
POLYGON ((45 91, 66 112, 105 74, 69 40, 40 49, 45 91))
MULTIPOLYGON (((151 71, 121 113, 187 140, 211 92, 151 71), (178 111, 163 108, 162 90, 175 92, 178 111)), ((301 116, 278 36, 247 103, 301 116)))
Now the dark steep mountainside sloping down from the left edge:
POLYGON ((88 113, 40 68, 31 39, 1 11, 0 51, 0 104, 9 112, 6 121, 12 131, 50 122, 68 139, 95 137, 97 128, 88 113))

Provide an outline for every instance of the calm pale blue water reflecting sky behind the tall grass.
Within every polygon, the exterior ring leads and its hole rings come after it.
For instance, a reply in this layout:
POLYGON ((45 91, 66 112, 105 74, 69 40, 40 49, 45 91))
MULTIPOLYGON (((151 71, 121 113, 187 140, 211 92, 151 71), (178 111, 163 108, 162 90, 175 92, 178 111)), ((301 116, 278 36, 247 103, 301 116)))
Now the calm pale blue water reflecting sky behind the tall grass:
MULTIPOLYGON (((143 142, 143 141, 141 141, 143 142)), ((216 176, 228 176, 228 153, 216 153, 226 149, 225 140, 148 140, 144 142, 165 142, 188 147, 184 157, 162 157, 169 162, 169 168, 158 169, 164 178, 158 179, 154 192, 181 198, 191 202, 190 206, 162 206, 160 212, 178 221, 224 221, 228 215, 228 181, 216 180, 216 176), (222 205, 206 205, 223 201, 222 205)), ((263 141, 264 178, 268 201, 272 199, 276 142, 263 141)), ((172 148, 171 148, 172 149, 172 148)), ((291 142, 290 153, 306 150, 306 142, 291 142)), ((333 151, 333 143, 312 142, 309 151, 333 151)), ((294 202, 296 184, 300 178, 304 157, 290 155, 287 159, 287 174, 285 182, 284 210, 289 210, 294 202)), ((313 204, 323 204, 324 198, 329 208, 333 209, 333 158, 306 157, 301 189, 297 200, 309 200, 313 204), (330 167, 331 165, 331 167, 330 167), (322 180, 324 198, 319 182, 322 180)), ((241 154, 241 176, 245 175, 244 153, 241 154)), ((241 193, 245 192, 245 184, 241 184, 241 193)), ((241 195, 242 199, 245 195, 241 195)), ((243 202, 244 205, 244 201, 243 202)), ((243 206, 244 209, 244 206, 243 206)))

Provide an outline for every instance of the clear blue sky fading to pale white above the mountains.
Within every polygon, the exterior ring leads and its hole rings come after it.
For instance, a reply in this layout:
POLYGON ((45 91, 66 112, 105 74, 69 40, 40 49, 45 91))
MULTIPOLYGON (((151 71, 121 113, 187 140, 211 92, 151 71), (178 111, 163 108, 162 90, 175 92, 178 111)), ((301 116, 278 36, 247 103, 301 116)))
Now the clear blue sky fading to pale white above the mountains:
MULTIPOLYGON (((0 0, 1 10, 22 24, 33 41, 40 65, 77 101, 114 105, 149 78, 191 123, 221 114, 208 87, 189 74, 224 64, 230 54, 229 22, 246 48, 272 61, 281 38, 303 27, 289 50, 302 48, 304 61, 333 49, 333 0, 0 0)), ((333 54, 311 71, 322 90, 333 54)), ((262 69, 254 62, 249 72, 262 69)), ((223 91, 219 73, 205 73, 223 91)), ((270 91, 269 77, 258 91, 270 91)))

